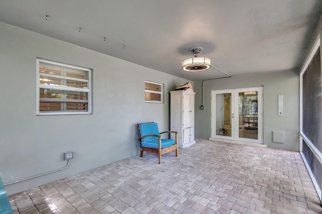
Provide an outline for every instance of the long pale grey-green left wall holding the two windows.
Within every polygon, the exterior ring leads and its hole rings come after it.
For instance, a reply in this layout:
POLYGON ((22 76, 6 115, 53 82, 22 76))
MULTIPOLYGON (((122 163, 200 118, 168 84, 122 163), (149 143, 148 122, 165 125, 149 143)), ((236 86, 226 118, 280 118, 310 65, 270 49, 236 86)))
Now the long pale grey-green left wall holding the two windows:
MULTIPOLYGON (((121 47, 120 47, 121 48, 121 47)), ((139 153, 136 123, 169 130, 169 91, 188 80, 0 23, 0 173, 13 194, 139 153), (93 69, 93 114, 36 116, 36 57, 93 69), (165 84, 164 104, 144 102, 144 80, 165 84)))

